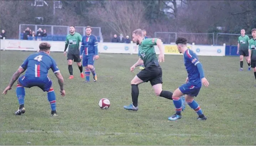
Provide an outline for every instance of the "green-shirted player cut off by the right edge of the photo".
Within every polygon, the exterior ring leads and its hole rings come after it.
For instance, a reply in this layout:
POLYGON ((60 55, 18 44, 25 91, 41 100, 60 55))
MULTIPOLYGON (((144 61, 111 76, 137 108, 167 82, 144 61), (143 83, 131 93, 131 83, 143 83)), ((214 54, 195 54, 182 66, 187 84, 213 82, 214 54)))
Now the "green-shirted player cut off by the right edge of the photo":
MULTIPOLYGON (((252 29, 252 39, 249 41, 249 59, 251 67, 254 70, 254 77, 256 79, 256 28, 252 29)), ((256 87, 256 85, 254 85, 256 87)))

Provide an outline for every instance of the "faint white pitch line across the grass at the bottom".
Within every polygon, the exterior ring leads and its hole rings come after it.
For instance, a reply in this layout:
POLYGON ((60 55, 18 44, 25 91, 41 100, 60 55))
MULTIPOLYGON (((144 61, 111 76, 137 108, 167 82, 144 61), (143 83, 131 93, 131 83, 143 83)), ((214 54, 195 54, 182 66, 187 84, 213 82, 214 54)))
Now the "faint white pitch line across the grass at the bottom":
POLYGON ((155 134, 155 133, 122 133, 122 132, 88 132, 88 131, 42 131, 42 130, 9 130, 9 131, 1 131, 1 133, 54 133, 54 134, 78 134, 78 135, 86 135, 86 136, 95 136, 95 135, 140 135, 140 136, 152 136, 152 135, 161 135, 161 136, 178 136, 178 137, 186 137, 186 136, 195 136, 195 137, 252 137, 251 135, 220 135, 220 134, 155 134))

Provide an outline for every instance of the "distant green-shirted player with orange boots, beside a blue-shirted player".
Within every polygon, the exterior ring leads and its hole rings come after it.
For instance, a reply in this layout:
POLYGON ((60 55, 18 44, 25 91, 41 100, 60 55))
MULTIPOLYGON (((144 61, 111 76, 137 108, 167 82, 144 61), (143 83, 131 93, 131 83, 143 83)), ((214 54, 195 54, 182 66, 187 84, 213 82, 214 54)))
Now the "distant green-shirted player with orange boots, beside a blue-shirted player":
POLYGON ((65 50, 64 50, 64 55, 66 56, 66 50, 68 47, 68 52, 67 52, 67 62, 68 62, 68 71, 70 73, 70 77, 68 79, 73 79, 73 67, 72 67, 72 61, 76 62, 79 70, 80 70, 80 76, 81 78, 85 78, 85 75, 83 74, 83 66, 81 64, 81 59, 80 59, 80 49, 79 45, 82 42, 82 36, 75 32, 75 26, 70 26, 69 27, 70 34, 67 35, 66 38, 66 45, 65 45, 65 50))

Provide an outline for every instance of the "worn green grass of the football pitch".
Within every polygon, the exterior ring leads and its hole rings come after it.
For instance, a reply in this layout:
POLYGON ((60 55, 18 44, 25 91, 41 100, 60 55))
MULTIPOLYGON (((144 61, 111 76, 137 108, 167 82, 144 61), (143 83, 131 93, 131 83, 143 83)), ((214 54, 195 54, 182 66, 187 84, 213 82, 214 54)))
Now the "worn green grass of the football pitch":
MULTIPOLYGON (((1 92, 31 53, 1 51, 1 92)), ((75 78, 68 80, 66 57, 51 56, 65 79, 66 96, 61 97, 50 71, 58 117, 50 116, 46 93, 37 87, 26 89, 26 113, 13 115, 19 107, 15 83, 0 98, 0 145, 256 145, 255 79, 253 71, 238 71, 237 57, 199 56, 210 86, 203 87, 195 100, 208 119, 198 121, 187 105, 182 119, 168 121, 174 114, 173 102, 155 96, 150 83, 139 85, 137 112, 123 109, 131 103, 130 80, 139 72, 138 68, 129 72, 137 54, 100 54, 96 83, 83 83, 75 63, 75 78), (108 110, 99 108, 101 98, 111 101, 108 110)), ((161 66, 164 90, 173 92, 185 82, 182 56, 166 55, 161 66)))

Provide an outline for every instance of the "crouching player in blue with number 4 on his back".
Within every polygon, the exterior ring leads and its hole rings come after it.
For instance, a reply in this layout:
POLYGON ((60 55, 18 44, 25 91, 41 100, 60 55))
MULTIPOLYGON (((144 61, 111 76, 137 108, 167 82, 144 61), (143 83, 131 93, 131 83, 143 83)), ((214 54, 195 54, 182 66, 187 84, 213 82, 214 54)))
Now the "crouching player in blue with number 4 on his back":
POLYGON ((49 43, 41 43, 39 45, 40 52, 31 54, 27 59, 21 64, 18 70, 12 75, 9 85, 5 88, 2 94, 7 94, 8 90, 11 90, 12 85, 19 78, 25 70, 25 75, 22 75, 17 83, 16 94, 20 104, 19 109, 15 112, 15 115, 21 115, 25 113, 24 98, 25 89, 31 87, 39 87, 43 92, 47 92, 47 98, 51 105, 51 116, 57 116, 56 113, 56 96, 52 88, 52 81, 48 77, 48 70, 51 68, 55 76, 58 78, 58 83, 60 84, 61 95, 65 96, 64 90, 64 80, 57 67, 54 59, 49 56, 51 45, 49 43))

